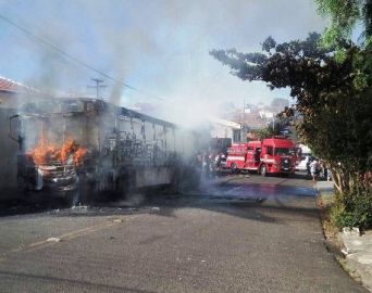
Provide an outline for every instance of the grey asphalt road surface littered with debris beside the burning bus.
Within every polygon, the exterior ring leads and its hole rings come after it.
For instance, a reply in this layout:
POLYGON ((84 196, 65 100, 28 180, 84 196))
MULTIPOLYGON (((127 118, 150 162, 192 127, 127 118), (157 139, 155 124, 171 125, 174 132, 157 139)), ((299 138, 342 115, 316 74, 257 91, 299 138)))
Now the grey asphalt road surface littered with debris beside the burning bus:
MULTIPOLYGON (((128 208, 0 218, 1 292, 367 292, 326 251, 310 181, 234 176, 128 208)), ((15 209, 16 211, 16 209, 15 209)))

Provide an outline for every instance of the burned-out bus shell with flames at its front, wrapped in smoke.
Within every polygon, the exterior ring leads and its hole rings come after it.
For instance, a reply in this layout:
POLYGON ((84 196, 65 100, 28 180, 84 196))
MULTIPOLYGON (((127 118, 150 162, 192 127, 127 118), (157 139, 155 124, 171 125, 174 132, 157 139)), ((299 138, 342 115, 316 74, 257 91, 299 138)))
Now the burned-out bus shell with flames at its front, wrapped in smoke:
MULTIPOLYGON (((18 187, 72 204, 94 194, 172 184, 197 143, 175 125, 94 99, 29 103, 10 119, 18 187)), ((196 140, 200 143, 200 140, 196 140)))

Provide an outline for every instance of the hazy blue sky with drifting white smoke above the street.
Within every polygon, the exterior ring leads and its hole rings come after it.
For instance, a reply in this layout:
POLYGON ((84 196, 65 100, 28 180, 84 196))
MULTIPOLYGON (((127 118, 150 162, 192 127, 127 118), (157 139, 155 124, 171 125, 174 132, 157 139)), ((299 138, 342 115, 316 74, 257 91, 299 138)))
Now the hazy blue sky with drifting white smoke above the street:
POLYGON ((95 97, 87 86, 100 78, 104 99, 189 120, 224 103, 289 98, 232 76, 210 50, 260 51, 268 36, 303 39, 326 24, 313 0, 0 0, 0 76, 82 97, 95 97))

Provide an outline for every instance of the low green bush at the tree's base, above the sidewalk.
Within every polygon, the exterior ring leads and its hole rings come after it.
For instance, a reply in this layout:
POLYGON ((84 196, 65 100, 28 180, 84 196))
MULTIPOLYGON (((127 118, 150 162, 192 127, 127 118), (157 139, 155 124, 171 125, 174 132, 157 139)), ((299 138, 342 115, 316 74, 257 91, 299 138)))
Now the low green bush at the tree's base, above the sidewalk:
POLYGON ((337 193, 331 208, 331 220, 338 228, 372 228, 371 191, 337 193))

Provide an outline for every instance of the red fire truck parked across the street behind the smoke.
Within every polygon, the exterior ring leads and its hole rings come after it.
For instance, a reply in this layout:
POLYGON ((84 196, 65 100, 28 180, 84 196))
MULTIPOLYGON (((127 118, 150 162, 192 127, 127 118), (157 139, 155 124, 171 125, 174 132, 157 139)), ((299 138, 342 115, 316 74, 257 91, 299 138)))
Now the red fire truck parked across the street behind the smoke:
POLYGON ((255 170, 266 176, 294 174, 296 168, 296 144, 286 138, 234 143, 227 154, 226 167, 233 173, 255 170))

